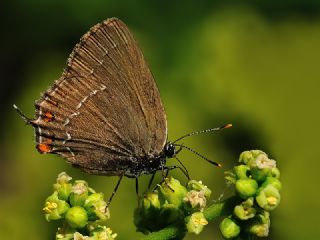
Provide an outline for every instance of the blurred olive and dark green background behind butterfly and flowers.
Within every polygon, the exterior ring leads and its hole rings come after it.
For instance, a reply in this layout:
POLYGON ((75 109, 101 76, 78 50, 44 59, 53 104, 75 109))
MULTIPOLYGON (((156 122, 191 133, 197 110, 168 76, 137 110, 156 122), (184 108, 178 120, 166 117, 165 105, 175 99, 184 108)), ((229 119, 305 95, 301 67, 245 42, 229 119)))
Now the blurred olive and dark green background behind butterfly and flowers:
MULTIPOLYGON (((117 178, 89 176, 60 157, 38 154, 33 129, 12 104, 33 116, 34 100, 60 76, 81 35, 113 16, 144 51, 167 111, 169 138, 233 123, 184 143, 223 163, 223 170, 243 150, 268 152, 283 182, 270 239, 320 239, 319 10, 312 0, 2 1, 0 239, 53 239, 57 226, 41 209, 61 171, 111 194, 117 178)), ((223 170, 188 152, 180 158, 218 198, 223 170)), ((141 178, 141 189, 147 180, 141 178)), ((125 179, 108 224, 120 240, 141 236, 132 219, 136 204, 134 181, 125 179)), ((187 239, 221 239, 217 229, 210 224, 187 239)))

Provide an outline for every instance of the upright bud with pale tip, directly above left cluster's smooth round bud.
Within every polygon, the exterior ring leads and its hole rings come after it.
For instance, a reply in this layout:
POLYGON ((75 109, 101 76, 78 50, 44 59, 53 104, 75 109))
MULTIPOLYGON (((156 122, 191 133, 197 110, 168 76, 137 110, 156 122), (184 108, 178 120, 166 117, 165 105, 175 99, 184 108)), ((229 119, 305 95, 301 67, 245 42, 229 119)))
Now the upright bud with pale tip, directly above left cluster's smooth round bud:
POLYGON ((72 206, 83 206, 86 198, 88 197, 88 192, 88 183, 83 180, 76 180, 70 193, 70 204, 72 206))

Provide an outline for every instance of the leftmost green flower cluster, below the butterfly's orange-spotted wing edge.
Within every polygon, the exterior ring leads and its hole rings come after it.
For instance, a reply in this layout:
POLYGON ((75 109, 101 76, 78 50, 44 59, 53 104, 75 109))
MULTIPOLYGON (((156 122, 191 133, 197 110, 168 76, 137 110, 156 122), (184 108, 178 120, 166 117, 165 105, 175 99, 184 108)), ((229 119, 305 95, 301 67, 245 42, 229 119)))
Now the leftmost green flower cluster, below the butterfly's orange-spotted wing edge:
POLYGON ((58 175, 53 193, 43 208, 47 221, 63 220, 56 239, 113 240, 117 234, 101 225, 110 218, 102 193, 97 193, 83 180, 71 181, 65 172, 58 175))

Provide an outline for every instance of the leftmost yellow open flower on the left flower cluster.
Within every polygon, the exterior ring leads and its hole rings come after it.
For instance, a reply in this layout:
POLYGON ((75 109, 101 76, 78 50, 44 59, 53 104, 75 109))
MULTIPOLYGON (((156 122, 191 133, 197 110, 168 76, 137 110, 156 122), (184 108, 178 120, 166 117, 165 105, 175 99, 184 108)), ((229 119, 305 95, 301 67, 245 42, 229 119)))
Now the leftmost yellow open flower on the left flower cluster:
POLYGON ((58 192, 54 192, 46 199, 43 211, 45 218, 49 222, 50 220, 58 220, 64 217, 65 213, 69 209, 69 204, 58 198, 58 192))

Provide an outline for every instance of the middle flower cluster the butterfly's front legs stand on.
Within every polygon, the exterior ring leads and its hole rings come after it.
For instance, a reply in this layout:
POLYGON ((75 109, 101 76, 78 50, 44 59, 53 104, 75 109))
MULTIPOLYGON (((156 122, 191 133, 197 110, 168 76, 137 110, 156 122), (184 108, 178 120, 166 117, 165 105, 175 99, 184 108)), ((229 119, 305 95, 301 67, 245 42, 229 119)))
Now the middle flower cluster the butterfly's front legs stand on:
MULTIPOLYGON (((203 210, 211 190, 201 181, 191 180, 187 187, 172 177, 165 179, 158 190, 147 193, 135 210, 134 223, 137 230, 148 234, 167 226, 177 226, 199 234, 208 224, 203 210)), ((179 239, 179 237, 177 238, 179 239)))

